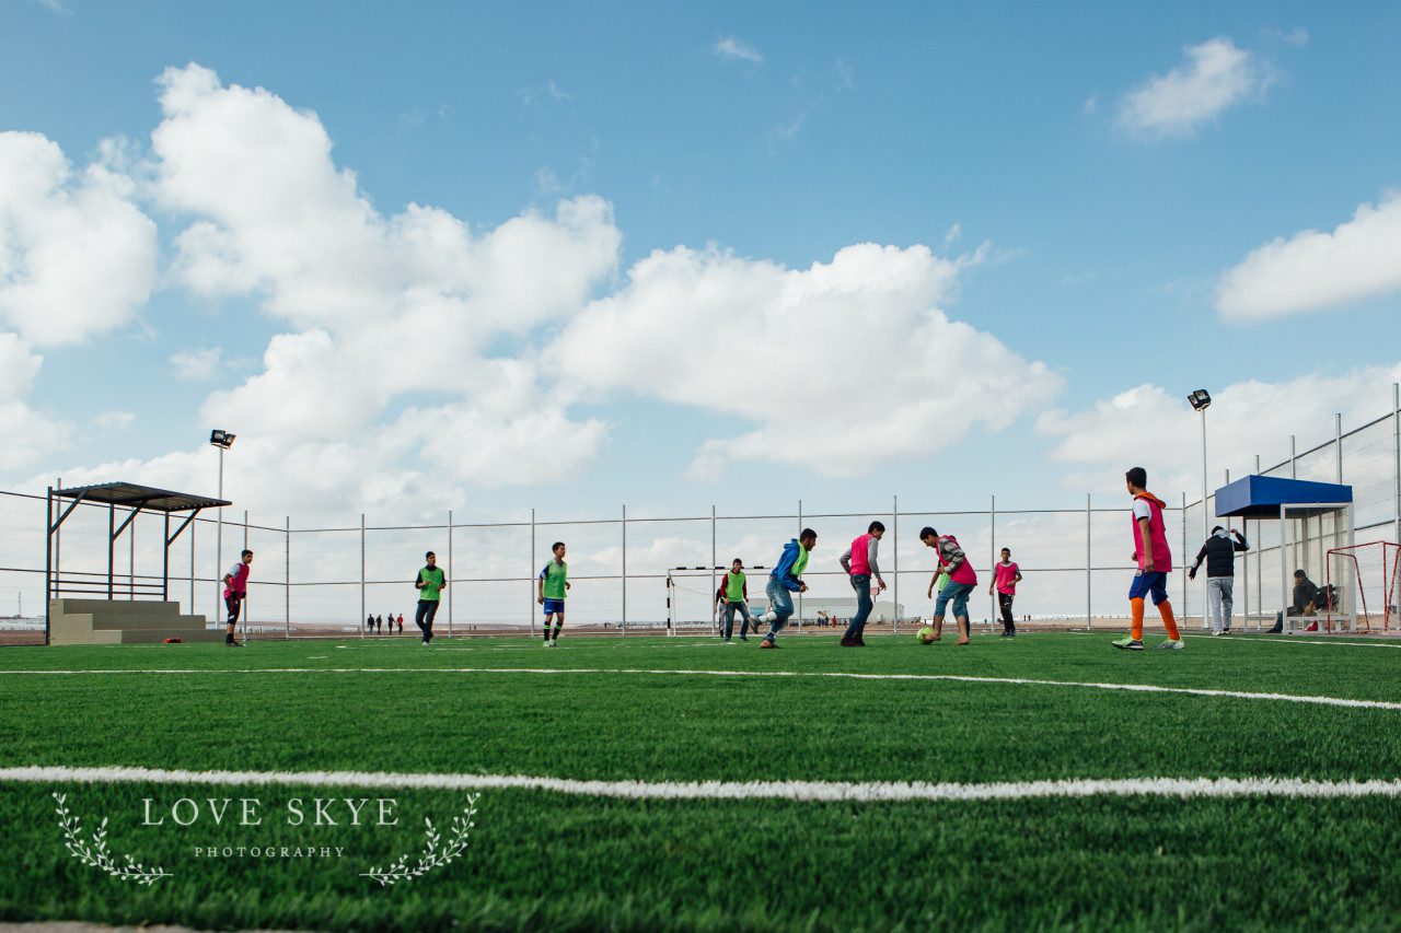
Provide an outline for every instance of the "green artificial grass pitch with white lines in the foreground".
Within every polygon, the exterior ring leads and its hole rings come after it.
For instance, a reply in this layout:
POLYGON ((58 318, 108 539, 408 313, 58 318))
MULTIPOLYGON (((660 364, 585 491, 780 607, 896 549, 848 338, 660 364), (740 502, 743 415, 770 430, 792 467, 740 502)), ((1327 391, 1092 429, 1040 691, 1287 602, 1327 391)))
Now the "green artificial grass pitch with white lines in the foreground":
MULTIPOLYGON (((1237 636, 1125 654, 1111 637, 975 636, 960 649, 901 636, 843 650, 800 636, 782 651, 567 636, 553 651, 524 639, 11 649, 0 651, 0 768, 741 783, 1401 778, 1401 710, 1002 682, 1401 702, 1394 649, 1237 636), (877 678, 813 677, 831 672, 877 678)), ((451 863, 392 885, 366 877, 405 855, 412 871, 426 820, 441 850, 467 803, 450 790, 6 780, 0 919, 874 930, 1387 929, 1401 916, 1395 797, 818 803, 485 790, 451 863), (118 869, 132 855, 168 877, 142 885, 74 857, 53 793, 81 818, 80 842, 106 818, 118 869), (259 801, 259 825, 240 825, 244 797, 259 801), (315 825, 317 799, 335 825, 315 825), (380 799, 394 801, 394 822, 375 818, 380 799)))

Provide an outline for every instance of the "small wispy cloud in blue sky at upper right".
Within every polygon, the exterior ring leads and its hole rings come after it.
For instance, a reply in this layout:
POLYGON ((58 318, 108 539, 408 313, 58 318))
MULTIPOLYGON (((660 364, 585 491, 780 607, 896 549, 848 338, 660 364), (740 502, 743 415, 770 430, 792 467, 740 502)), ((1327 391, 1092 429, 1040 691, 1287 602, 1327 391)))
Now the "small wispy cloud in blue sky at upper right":
POLYGON ((1146 137, 1191 136, 1223 112, 1259 99, 1275 69, 1224 36, 1184 49, 1187 62, 1119 101, 1119 126, 1146 137))

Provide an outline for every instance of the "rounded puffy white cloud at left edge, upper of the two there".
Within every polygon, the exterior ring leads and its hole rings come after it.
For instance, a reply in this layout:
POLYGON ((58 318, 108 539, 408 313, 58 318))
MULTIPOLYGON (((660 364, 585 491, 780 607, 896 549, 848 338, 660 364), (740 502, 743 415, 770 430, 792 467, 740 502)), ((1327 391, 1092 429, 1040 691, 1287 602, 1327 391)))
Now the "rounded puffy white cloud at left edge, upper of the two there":
POLYGON ((0 317, 31 343, 129 322, 156 280, 156 224, 104 164, 76 171, 38 133, 0 133, 0 317))

